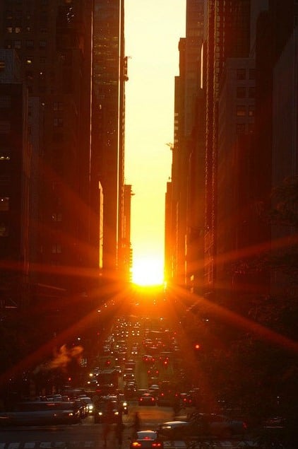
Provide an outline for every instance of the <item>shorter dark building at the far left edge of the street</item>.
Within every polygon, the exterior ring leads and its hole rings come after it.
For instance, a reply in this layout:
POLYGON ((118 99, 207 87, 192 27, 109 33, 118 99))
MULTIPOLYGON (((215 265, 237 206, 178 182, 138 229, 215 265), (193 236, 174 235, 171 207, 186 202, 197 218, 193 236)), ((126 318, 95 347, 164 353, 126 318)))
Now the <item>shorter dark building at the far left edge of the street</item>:
POLYGON ((28 91, 13 49, 0 49, 0 308, 18 308, 29 268, 28 91))

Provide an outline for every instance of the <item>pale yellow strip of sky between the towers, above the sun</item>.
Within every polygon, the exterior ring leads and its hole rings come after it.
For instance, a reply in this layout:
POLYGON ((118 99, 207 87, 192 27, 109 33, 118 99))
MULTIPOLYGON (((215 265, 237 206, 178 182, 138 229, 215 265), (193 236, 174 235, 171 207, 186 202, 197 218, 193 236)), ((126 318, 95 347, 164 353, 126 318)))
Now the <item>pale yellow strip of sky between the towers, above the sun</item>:
MULTIPOLYGON (((185 36, 186 0, 125 0, 125 182, 132 185, 133 267, 144 259, 163 270, 165 192, 174 139, 174 77, 185 36)), ((143 262, 142 262, 143 260, 143 262)))

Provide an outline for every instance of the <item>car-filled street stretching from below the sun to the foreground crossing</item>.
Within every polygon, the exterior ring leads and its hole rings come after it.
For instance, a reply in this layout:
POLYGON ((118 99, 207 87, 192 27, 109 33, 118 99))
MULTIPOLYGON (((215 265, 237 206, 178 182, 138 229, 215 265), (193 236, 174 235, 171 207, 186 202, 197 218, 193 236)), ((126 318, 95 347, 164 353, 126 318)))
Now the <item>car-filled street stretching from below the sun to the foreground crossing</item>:
POLYGON ((166 303, 132 303, 113 315, 76 383, 1 412, 0 449, 265 447, 249 417, 195 381, 185 345, 166 303))

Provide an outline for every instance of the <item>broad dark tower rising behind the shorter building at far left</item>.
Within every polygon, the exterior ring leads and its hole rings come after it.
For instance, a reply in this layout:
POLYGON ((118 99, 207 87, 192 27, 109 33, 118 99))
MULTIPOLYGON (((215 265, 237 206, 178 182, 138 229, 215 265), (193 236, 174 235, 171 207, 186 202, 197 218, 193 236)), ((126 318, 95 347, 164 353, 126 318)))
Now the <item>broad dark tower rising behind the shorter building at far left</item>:
POLYGON ((85 289, 90 267, 90 1, 1 1, 0 47, 20 60, 32 142, 30 277, 56 292, 85 289), (33 121, 34 120, 34 121, 33 121))

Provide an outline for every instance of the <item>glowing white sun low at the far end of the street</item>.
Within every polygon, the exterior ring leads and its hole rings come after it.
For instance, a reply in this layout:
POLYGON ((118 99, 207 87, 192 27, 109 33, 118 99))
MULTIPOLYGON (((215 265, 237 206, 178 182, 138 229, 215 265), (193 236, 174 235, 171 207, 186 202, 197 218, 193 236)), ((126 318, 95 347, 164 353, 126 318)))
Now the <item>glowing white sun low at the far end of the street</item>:
POLYGON ((164 281, 163 262, 157 257, 143 257, 133 262, 133 283, 139 286, 157 286, 164 281))

